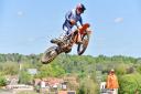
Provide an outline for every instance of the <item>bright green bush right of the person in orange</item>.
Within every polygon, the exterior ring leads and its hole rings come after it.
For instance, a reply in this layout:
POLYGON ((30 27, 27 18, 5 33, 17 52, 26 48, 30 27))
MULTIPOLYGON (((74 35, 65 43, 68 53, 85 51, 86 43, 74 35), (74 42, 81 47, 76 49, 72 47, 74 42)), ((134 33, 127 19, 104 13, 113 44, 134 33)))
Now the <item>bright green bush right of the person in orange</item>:
POLYGON ((134 94, 141 92, 141 75, 139 73, 126 74, 119 77, 119 94, 134 94))

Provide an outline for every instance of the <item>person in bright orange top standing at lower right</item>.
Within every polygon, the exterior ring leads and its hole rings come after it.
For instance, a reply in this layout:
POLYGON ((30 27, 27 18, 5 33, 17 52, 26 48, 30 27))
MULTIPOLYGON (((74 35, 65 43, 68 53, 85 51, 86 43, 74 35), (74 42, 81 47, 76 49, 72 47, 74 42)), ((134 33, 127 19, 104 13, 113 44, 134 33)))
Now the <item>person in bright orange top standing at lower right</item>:
POLYGON ((118 94, 118 79, 115 74, 115 70, 111 70, 107 76, 106 87, 110 91, 112 91, 112 94, 118 94))

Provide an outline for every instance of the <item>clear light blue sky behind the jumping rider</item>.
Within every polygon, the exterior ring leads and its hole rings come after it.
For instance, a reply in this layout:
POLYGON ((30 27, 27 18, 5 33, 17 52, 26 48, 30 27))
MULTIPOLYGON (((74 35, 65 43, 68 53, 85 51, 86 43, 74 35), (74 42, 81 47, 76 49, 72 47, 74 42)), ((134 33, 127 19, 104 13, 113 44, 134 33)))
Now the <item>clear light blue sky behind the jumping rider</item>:
POLYGON ((77 3, 93 30, 84 55, 141 58, 141 0, 0 0, 0 53, 43 53, 77 3))

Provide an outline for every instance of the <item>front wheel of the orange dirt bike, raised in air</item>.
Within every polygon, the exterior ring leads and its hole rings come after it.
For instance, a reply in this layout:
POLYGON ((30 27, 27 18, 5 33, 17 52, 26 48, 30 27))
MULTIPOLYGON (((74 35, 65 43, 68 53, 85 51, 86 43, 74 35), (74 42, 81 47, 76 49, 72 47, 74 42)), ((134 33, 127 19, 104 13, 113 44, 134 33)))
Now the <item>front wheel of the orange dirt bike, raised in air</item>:
POLYGON ((82 55, 85 50, 87 49, 87 45, 88 45, 88 42, 89 42, 89 34, 86 33, 82 36, 82 41, 83 43, 79 43, 78 46, 77 46, 77 53, 78 55, 82 55))

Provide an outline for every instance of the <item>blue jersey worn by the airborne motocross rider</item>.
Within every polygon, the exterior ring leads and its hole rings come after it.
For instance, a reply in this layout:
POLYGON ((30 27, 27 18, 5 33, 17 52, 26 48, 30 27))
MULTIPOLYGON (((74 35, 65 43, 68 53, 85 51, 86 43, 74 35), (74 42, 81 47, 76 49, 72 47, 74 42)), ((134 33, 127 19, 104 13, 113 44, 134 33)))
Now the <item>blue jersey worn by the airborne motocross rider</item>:
POLYGON ((75 9, 73 9, 72 11, 68 11, 68 12, 66 13, 66 15, 65 15, 65 19, 66 19, 66 20, 65 20, 63 27, 65 25, 65 27, 72 29, 74 25, 77 25, 77 22, 78 22, 78 21, 79 21, 80 24, 83 24, 82 17, 80 17, 80 14, 77 14, 77 13, 76 13, 76 10, 75 10, 75 9), (70 23, 70 19, 75 20, 75 21, 76 21, 76 24, 72 24, 72 23, 70 23))

